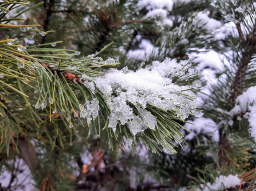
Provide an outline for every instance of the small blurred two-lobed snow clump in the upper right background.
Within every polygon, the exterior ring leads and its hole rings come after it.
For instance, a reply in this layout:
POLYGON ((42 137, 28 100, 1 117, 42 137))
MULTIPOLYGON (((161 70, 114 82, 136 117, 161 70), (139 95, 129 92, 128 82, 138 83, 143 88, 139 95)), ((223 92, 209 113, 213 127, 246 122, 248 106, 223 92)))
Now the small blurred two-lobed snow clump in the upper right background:
POLYGON ((208 14, 205 12, 198 12, 197 16, 195 18, 197 21, 201 21, 202 23, 204 23, 204 27, 205 29, 209 30, 209 31, 213 31, 216 30, 217 28, 221 27, 221 23, 218 20, 215 20, 213 18, 209 18, 208 14))

